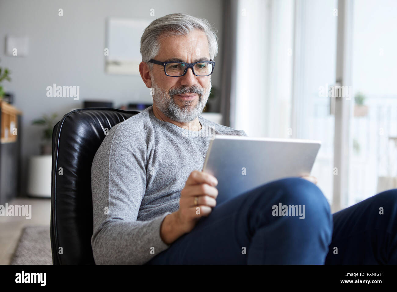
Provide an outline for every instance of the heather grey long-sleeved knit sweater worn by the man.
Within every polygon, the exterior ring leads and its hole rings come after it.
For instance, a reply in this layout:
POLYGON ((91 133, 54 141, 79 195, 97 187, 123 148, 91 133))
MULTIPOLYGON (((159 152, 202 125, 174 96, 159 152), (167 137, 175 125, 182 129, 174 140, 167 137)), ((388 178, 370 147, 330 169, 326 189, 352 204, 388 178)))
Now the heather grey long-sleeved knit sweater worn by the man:
POLYGON ((143 264, 167 249, 162 220, 179 209, 189 174, 202 170, 211 136, 247 136, 198 119, 202 129, 192 131, 159 120, 150 106, 109 131, 91 167, 96 264, 143 264))

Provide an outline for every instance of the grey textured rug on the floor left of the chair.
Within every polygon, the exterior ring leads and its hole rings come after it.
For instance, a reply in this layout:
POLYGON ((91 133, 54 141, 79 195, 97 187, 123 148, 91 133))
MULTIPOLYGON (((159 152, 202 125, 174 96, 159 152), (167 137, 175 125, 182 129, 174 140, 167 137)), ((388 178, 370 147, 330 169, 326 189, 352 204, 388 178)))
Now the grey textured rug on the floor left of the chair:
POLYGON ((52 265, 50 226, 26 226, 11 265, 52 265))

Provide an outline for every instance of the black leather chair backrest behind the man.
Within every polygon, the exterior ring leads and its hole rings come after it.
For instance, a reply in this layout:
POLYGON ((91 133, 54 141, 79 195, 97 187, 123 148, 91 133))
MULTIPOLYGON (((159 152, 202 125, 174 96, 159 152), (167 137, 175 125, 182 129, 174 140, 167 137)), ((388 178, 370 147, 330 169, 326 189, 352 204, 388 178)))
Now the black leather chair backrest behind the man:
POLYGON ((54 126, 50 223, 54 265, 95 263, 91 164, 107 132, 138 113, 81 108, 67 113, 54 126))

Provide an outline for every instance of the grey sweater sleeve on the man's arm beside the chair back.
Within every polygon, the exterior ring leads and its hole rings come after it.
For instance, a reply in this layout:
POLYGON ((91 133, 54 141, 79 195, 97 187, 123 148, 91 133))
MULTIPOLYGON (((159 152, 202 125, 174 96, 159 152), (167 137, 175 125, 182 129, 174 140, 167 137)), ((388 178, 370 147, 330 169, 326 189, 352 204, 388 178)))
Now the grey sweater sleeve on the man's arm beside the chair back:
POLYGON ((93 160, 91 188, 91 246, 96 264, 144 264, 169 247, 160 237, 160 226, 171 212, 137 221, 146 190, 146 141, 142 131, 131 133, 118 125, 109 131, 93 160))

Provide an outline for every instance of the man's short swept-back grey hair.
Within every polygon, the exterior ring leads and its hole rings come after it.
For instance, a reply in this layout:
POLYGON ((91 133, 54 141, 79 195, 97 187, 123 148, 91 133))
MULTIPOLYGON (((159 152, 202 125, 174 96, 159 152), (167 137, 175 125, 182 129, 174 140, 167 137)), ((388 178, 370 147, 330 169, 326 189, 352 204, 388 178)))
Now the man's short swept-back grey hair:
POLYGON ((141 37, 142 61, 146 62, 152 70, 153 64, 148 62, 160 51, 160 35, 161 38, 188 35, 194 29, 203 31, 207 36, 210 59, 214 60, 216 54, 218 54, 218 38, 216 36, 218 30, 204 18, 174 13, 155 19, 146 27, 141 37))

